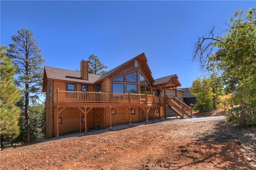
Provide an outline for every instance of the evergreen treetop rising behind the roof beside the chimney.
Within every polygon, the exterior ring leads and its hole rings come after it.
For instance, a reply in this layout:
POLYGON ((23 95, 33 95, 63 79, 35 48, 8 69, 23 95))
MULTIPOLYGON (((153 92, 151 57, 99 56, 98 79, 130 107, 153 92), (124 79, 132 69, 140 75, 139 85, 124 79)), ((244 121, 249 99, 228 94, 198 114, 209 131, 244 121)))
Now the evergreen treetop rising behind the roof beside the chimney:
POLYGON ((92 74, 103 74, 106 71, 103 71, 103 69, 106 69, 107 66, 101 63, 98 56, 92 54, 89 56, 89 73, 92 74))

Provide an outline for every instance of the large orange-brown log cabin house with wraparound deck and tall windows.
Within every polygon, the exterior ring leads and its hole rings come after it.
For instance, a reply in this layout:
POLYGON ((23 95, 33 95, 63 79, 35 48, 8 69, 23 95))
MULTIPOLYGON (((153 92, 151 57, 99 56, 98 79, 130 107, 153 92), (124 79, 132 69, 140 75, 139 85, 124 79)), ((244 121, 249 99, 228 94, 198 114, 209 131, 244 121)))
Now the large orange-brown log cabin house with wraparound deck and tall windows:
POLYGON ((144 53, 102 75, 44 67, 46 138, 70 132, 112 128, 166 117, 171 109, 181 118, 191 115, 183 103, 176 74, 153 79, 144 53))

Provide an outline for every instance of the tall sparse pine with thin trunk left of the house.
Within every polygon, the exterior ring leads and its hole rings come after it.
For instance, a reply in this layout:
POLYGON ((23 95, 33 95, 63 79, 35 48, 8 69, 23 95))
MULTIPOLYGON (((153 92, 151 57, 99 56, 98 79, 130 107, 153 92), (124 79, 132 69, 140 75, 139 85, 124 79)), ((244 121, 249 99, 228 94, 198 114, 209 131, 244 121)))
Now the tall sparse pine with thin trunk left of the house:
POLYGON ((29 128, 29 101, 39 99, 43 80, 43 57, 42 50, 38 47, 33 38, 33 33, 27 29, 18 31, 18 35, 12 36, 13 44, 10 45, 8 54, 17 66, 16 79, 24 95, 24 112, 25 112, 25 143, 30 141, 29 128))

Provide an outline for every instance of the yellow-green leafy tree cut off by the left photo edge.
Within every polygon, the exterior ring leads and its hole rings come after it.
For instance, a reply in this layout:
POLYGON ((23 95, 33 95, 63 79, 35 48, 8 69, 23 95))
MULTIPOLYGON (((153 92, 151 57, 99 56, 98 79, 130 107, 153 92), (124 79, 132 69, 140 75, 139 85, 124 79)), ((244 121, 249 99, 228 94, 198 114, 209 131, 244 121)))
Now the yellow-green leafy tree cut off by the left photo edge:
POLYGON ((15 67, 4 53, 4 47, 1 47, 0 55, 0 135, 1 148, 3 140, 19 134, 19 107, 15 103, 21 98, 21 92, 15 87, 14 74, 15 67))

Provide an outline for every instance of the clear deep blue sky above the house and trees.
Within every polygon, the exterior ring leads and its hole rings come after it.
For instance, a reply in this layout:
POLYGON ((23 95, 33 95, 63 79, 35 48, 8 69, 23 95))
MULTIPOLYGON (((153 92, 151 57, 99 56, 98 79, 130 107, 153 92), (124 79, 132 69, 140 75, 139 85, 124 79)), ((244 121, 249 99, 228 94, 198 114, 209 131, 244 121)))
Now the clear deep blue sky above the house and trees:
POLYGON ((95 54, 107 70, 145 52, 154 78, 177 74, 190 87, 202 73, 191 63, 193 44, 212 25, 220 33, 237 9, 255 1, 1 1, 1 45, 30 29, 44 65, 79 69, 95 54))

